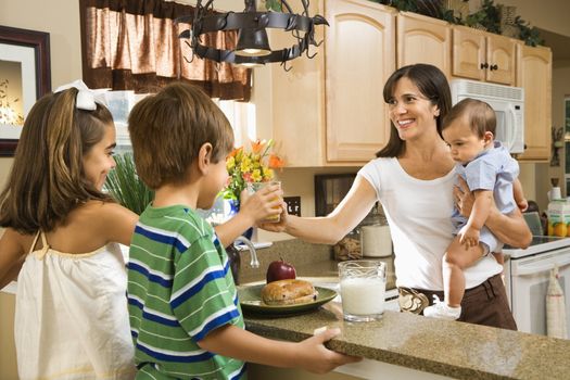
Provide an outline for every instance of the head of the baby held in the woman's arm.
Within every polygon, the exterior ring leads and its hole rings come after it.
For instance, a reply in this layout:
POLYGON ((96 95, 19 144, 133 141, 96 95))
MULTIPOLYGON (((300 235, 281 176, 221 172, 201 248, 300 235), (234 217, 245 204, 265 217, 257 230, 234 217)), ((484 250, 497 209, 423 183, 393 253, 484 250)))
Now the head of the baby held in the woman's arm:
POLYGON ((455 104, 443 118, 442 136, 452 157, 466 164, 493 147, 496 116, 485 102, 467 98, 455 104))

